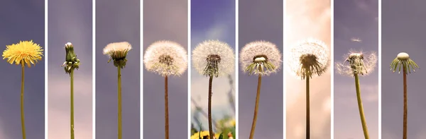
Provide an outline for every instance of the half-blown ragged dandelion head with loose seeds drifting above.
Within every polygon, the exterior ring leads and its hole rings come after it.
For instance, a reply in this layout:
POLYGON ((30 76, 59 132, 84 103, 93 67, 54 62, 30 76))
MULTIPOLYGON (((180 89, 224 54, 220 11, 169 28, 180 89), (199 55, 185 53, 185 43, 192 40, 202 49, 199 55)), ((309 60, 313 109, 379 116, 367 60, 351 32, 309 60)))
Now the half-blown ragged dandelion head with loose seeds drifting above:
POLYGON ((336 63, 336 71, 341 75, 368 75, 374 71, 377 64, 376 52, 364 53, 350 51, 344 55, 343 62, 336 63))

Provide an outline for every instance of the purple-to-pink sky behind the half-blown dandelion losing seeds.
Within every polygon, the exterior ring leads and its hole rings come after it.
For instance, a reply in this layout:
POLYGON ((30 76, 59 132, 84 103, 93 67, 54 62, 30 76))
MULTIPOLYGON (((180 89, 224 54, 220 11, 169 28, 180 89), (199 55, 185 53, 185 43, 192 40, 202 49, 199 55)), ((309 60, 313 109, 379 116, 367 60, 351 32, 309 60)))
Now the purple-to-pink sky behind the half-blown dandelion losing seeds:
MULTIPOLYGON (((378 0, 334 1, 334 62, 349 50, 378 54, 378 0), (362 42, 352 42, 355 37, 362 42)), ((353 77, 334 71, 334 138, 364 138, 353 77)), ((360 76, 361 99, 371 139, 378 139, 378 66, 360 76)))

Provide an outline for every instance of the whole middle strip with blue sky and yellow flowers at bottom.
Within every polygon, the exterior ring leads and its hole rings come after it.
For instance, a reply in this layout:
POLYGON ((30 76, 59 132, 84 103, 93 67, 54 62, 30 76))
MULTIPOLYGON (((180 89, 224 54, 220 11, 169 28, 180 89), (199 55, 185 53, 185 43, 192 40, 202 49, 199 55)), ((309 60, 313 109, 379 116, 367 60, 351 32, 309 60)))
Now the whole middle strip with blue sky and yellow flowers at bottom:
POLYGON ((191 138, 236 136, 235 28, 234 0, 191 1, 191 138))

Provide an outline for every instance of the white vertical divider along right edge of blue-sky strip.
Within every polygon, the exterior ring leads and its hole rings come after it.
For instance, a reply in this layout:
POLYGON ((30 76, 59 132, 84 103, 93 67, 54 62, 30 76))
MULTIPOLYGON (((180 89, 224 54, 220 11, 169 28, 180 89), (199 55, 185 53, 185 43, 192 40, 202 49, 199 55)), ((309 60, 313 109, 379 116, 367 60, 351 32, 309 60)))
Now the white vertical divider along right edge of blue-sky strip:
POLYGON ((235 138, 239 138, 239 0, 235 0, 235 138))

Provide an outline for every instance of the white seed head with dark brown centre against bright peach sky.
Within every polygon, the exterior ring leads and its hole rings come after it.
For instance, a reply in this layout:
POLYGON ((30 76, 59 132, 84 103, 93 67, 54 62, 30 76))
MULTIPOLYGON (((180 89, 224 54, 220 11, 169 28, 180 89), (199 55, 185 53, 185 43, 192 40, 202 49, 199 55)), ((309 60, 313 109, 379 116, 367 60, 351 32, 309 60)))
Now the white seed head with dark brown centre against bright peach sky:
POLYGON ((290 48, 288 68, 291 73, 305 78, 322 75, 329 66, 327 45, 316 39, 307 39, 290 48))

